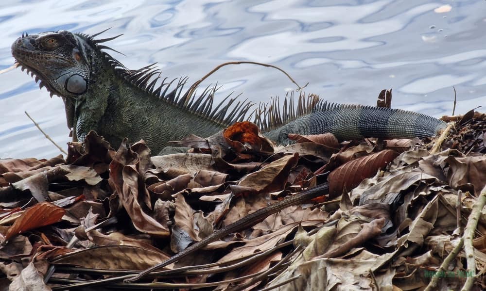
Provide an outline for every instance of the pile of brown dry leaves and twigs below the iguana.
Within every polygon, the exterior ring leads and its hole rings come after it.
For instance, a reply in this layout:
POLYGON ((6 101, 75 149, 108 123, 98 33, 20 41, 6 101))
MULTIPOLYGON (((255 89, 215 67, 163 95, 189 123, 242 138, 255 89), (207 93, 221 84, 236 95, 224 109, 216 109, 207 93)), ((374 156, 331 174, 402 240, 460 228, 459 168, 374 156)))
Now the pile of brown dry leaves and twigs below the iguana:
POLYGON ((283 148, 243 122, 156 157, 91 132, 67 160, 0 160, 0 289, 483 290, 486 117, 455 121, 433 141, 283 148), (326 181, 165 271, 119 278, 326 181))

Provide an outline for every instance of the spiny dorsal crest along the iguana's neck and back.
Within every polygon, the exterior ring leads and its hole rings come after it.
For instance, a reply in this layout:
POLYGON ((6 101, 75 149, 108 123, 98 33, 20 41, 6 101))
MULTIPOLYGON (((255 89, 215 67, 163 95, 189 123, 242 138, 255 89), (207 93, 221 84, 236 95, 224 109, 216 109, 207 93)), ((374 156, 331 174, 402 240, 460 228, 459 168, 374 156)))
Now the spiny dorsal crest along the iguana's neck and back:
POLYGON ((138 87, 152 97, 184 108, 191 113, 198 114, 223 126, 229 126, 237 121, 253 119, 253 122, 257 124, 260 129, 266 131, 277 128, 302 115, 311 113, 320 103, 317 95, 310 94, 305 97, 305 94, 300 93, 299 97, 297 97, 297 104, 295 106, 294 92, 292 92, 290 96, 289 94, 285 95, 282 110, 280 110, 279 98, 274 97, 269 103, 260 102, 258 108, 248 114, 254 103, 248 101, 248 99, 238 101, 241 94, 236 97, 231 97, 233 95, 233 93, 231 93, 213 108, 214 94, 221 88, 218 87, 217 84, 215 86, 206 87, 206 89, 196 97, 197 90, 195 90, 195 88, 189 88, 189 90, 184 91, 184 86, 187 84, 189 77, 175 78, 170 81, 167 81, 166 77, 161 82, 158 82, 161 78, 161 70, 155 66, 156 63, 144 66, 138 70, 128 69, 121 64, 121 62, 104 51, 112 50, 118 52, 117 50, 100 45, 101 43, 114 40, 123 34, 104 39, 95 39, 96 36, 107 30, 108 29, 92 35, 84 33, 77 33, 77 35, 83 37, 93 48, 98 49, 115 73, 125 81, 138 87), (176 80, 178 81, 175 83, 174 88, 172 85, 176 80), (171 89, 171 91, 169 91, 169 89, 171 89))

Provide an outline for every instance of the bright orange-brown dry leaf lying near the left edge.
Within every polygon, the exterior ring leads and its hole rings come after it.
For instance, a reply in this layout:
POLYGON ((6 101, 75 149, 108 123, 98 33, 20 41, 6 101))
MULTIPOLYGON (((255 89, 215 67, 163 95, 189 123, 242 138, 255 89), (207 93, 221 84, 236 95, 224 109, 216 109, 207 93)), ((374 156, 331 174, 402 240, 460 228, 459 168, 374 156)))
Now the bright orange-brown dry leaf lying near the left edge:
POLYGON ((41 202, 35 204, 33 207, 25 210, 9 227, 5 234, 5 241, 8 241, 13 236, 25 232, 27 230, 35 229, 40 226, 48 226, 58 221, 61 221, 66 210, 55 206, 49 202, 41 202))

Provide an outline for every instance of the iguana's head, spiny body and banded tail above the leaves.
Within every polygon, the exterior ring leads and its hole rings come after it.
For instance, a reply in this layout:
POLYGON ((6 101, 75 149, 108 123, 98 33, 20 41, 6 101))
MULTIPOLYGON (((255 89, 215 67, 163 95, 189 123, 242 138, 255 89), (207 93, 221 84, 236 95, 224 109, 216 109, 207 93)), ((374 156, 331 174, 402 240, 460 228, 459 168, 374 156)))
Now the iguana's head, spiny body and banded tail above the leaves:
POLYGON ((425 114, 331 104, 314 96, 305 99, 301 95, 296 109, 291 97, 286 98, 282 111, 274 101, 253 114, 249 113, 250 101, 236 101, 230 96, 213 106, 214 88, 196 96, 194 90, 184 89, 187 77, 157 82, 160 72, 155 64, 127 69, 106 52, 114 49, 102 45, 120 35, 96 39, 101 33, 22 33, 12 44, 12 55, 22 70, 35 75, 35 81, 40 81, 39 86, 45 86, 51 96, 62 97, 75 141, 83 142, 93 129, 113 146, 119 146, 125 137, 130 141, 144 139, 152 152, 158 153, 169 141, 191 133, 208 137, 245 119, 253 120, 278 144, 290 143, 288 133, 332 132, 343 141, 423 138, 445 128, 445 122, 425 114))

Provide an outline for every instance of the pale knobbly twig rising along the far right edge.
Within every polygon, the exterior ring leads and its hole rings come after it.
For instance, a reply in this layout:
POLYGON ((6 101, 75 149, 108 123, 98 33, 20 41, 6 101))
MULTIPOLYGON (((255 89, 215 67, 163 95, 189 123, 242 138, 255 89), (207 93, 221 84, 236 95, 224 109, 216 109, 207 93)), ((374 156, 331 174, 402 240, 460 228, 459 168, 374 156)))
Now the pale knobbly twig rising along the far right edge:
MULTIPOLYGON (((472 245, 472 240, 474 239, 474 232, 476 231, 476 227, 478 226, 479 217, 481 216, 482 210, 486 204, 486 186, 479 194, 479 197, 472 207, 471 214, 469 214, 468 224, 464 229, 464 252, 466 253, 466 261, 468 262, 468 269, 469 272, 474 274, 473 276, 467 276, 466 283, 462 287, 461 291, 469 291, 474 284, 474 280, 476 278, 476 259, 474 258, 474 246, 472 245)), ((469 274, 466 272, 466 274, 469 274)))

